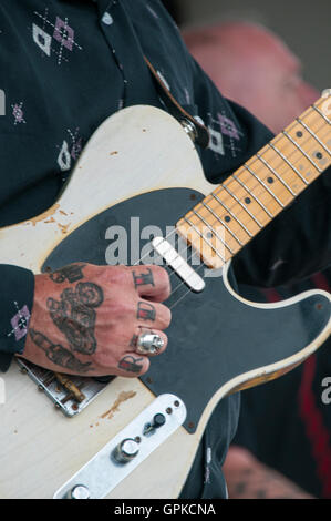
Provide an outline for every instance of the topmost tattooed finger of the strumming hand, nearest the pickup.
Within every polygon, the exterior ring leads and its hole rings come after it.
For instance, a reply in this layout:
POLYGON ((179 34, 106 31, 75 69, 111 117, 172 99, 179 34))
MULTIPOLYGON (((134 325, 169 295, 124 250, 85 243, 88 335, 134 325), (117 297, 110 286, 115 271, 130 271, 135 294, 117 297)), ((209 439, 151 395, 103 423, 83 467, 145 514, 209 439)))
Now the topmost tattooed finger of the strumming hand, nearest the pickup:
POLYGON ((134 288, 141 297, 152 302, 164 302, 170 295, 170 282, 167 272, 161 266, 130 266, 134 288))

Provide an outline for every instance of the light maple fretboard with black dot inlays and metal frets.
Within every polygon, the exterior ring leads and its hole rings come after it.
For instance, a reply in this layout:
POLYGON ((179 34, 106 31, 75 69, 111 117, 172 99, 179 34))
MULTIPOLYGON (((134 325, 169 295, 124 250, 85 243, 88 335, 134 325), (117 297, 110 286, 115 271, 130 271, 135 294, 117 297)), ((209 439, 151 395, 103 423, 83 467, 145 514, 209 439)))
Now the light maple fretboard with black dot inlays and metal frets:
POLYGON ((331 93, 188 212, 177 231, 221 267, 331 164, 331 93))

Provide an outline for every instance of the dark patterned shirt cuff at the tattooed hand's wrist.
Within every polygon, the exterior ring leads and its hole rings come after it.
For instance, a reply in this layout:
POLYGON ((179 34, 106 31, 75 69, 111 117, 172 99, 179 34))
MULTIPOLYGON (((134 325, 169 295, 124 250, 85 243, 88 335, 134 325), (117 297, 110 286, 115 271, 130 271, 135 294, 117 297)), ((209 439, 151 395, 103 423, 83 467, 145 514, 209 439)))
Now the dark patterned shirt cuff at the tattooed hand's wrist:
POLYGON ((29 269, 0 264, 0 370, 22 354, 32 310, 34 276, 29 269))

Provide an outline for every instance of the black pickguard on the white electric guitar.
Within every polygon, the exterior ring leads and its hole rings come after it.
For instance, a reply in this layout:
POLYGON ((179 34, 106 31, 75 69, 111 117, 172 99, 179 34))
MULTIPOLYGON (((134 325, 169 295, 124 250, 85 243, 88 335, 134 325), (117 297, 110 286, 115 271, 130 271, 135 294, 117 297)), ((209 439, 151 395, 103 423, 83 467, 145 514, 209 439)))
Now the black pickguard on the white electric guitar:
MULTIPOLYGON (((95 216, 49 256, 43 269, 56 269, 73 262, 105 264, 110 226, 131 228, 139 217, 141 229, 174 225, 203 195, 187 188, 168 188, 138 195, 95 216)), ((131 258, 130 233, 128 264, 131 258)), ((153 238, 153 237, 151 237, 153 238)), ((136 239, 136 238, 135 238, 136 239)), ((142 245, 148 241, 142 241, 142 245)), ((201 269, 199 270, 201 272, 201 269)), ((175 286, 177 276, 172 277, 175 286)), ((188 293, 173 309, 166 351, 153 358, 141 379, 155 394, 173 392, 187 407, 185 427, 196 430, 214 394, 238 375, 288 358, 309 345, 330 318, 330 302, 322 295, 306 297, 290 306, 258 309, 237 300, 223 278, 205 278, 200 294, 188 293)), ((166 303, 172 306, 187 293, 182 285, 166 303)))

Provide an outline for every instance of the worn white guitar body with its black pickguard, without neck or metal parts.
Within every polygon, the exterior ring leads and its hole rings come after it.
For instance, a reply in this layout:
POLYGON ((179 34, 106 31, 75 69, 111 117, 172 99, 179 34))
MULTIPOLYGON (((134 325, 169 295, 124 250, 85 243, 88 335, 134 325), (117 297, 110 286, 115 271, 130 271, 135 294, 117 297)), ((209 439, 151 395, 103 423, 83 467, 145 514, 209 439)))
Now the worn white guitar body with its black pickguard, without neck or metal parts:
MULTIPOLYGON (((130 232, 131 217, 139 216, 141 229, 154 225, 164 233, 213 188, 176 121, 157 109, 126 109, 96 131, 52 208, 0 231, 0 262, 35 273, 73 260, 104 264, 110 226, 130 232)), ((153 359, 143 378, 115 378, 73 419, 54 410, 12 365, 4 376, 7 401, 0 405, 2 498, 52 498, 164 392, 184 401, 184 426, 107 497, 178 497, 217 402, 287 372, 330 334, 328 293, 307 292, 276 305, 249 303, 231 288, 229 266, 223 276, 204 277, 201 293, 189 292, 172 275, 166 353, 153 359)))

